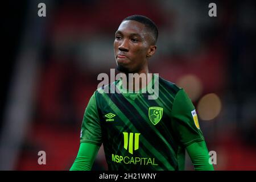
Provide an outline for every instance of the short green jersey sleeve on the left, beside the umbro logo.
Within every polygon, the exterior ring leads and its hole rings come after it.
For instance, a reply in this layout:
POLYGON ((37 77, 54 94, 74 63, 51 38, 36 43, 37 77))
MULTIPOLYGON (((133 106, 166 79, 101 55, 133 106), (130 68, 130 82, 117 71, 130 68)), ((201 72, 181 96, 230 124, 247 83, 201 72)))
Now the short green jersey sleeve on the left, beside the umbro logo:
POLYGON ((96 92, 90 98, 82 119, 80 142, 92 143, 101 146, 101 124, 96 104, 96 92))

